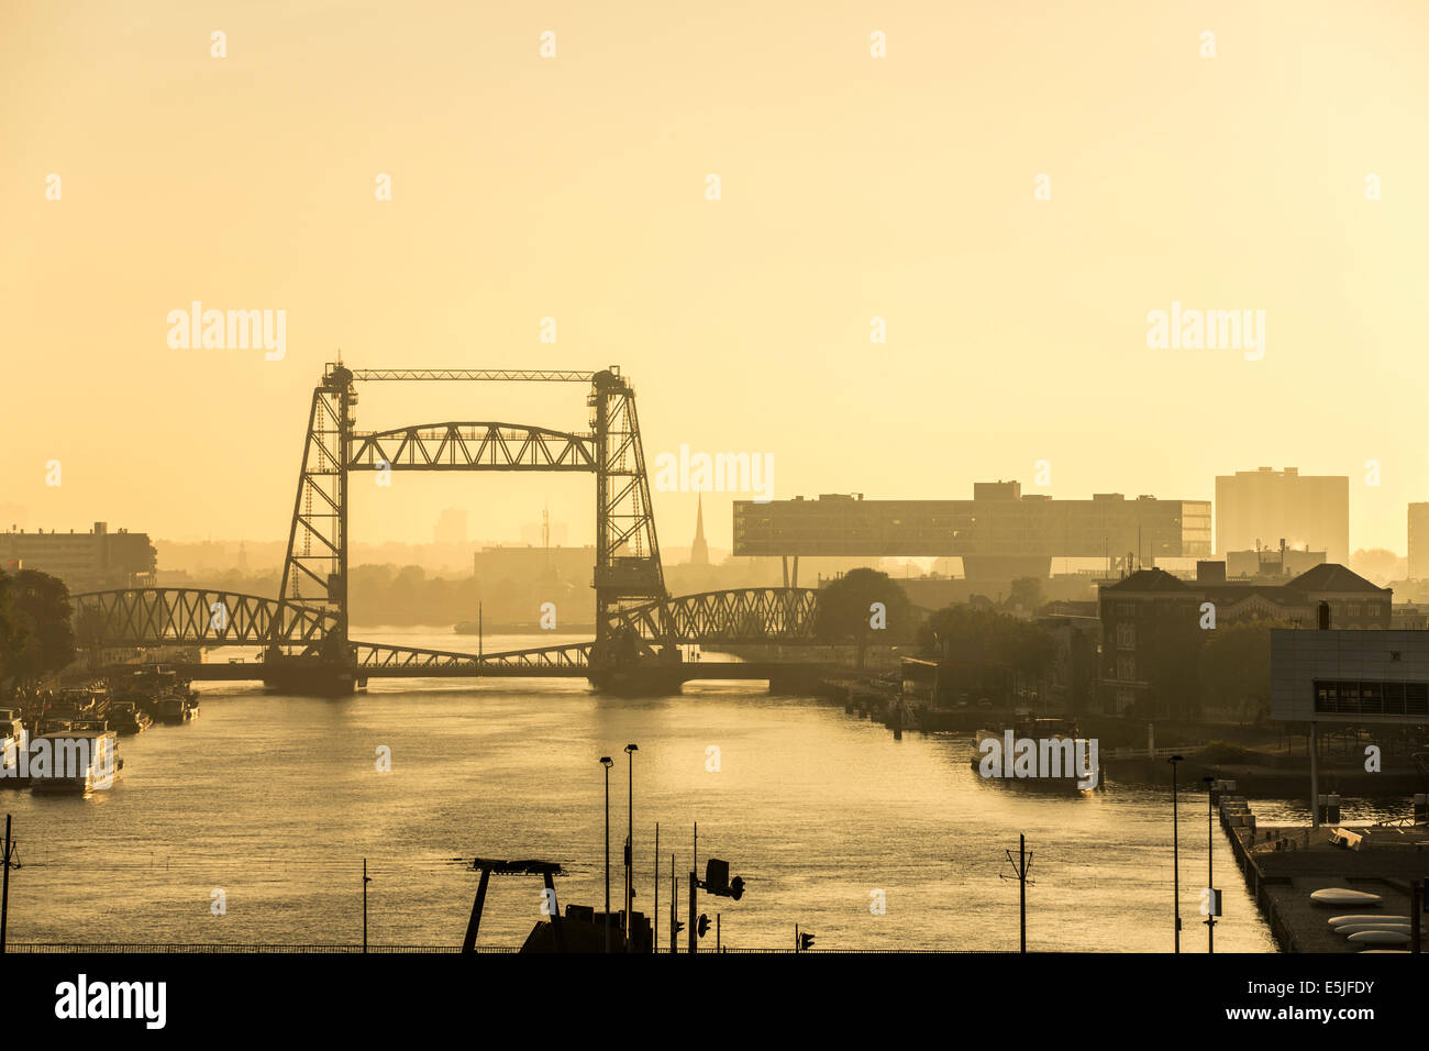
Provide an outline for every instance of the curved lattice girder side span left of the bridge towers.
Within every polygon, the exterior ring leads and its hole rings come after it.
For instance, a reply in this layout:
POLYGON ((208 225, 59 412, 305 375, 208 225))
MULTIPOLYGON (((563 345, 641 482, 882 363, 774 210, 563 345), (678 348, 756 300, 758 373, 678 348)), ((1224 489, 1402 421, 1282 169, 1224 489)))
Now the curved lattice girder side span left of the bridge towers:
MULTIPOLYGON (((124 588, 70 601, 80 646, 263 645, 279 609, 276 599, 197 588, 124 588)), ((294 642, 319 642, 336 622, 332 611, 293 603, 284 616, 294 642)))

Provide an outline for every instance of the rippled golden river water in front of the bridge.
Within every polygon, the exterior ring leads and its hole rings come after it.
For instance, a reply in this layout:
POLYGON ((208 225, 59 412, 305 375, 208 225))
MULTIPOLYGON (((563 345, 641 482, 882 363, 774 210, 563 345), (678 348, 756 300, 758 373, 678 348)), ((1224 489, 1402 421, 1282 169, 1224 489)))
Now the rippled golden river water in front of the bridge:
MULTIPOLYGON (((449 633, 384 638, 464 648, 449 633)), ((519 645, 534 643, 487 641, 519 645)), ((697 821, 700 872, 713 854, 747 884, 739 902, 702 894, 697 905, 723 914, 730 947, 785 948, 799 924, 817 948, 1016 949, 1017 884, 1000 877, 1025 832, 1029 948, 1172 948, 1169 791, 1110 784, 1065 796, 989 784, 967 762, 966 735, 895 741, 842 706, 753 684, 690 684, 660 699, 602 696, 584 681, 373 681, 339 701, 200 688, 199 721, 121 741, 111 791, 0 795, 24 865, 10 885, 13 941, 359 942, 364 857, 373 942, 460 942, 476 875, 446 861, 456 857, 559 861, 562 905, 599 907, 602 755, 616 759, 619 908, 622 749, 636 742, 636 908, 653 904, 659 822, 662 945, 670 854, 683 881, 697 821), (383 745, 387 774, 376 769, 383 745), (717 772, 706 769, 710 745, 717 772), (214 889, 226 915, 211 914, 214 889), (870 909, 875 891, 885 915, 870 909)), ((1252 802, 1263 824, 1300 818, 1289 804, 1252 802)), ((1349 802, 1349 818, 1370 816, 1349 802)), ((1206 839, 1205 795, 1183 795, 1182 939, 1195 952, 1206 942, 1206 839)), ((1216 948, 1273 951, 1219 828, 1215 848, 1226 911, 1216 948)), ((680 901, 684 919, 683 888, 680 901)), ((537 878, 493 879, 480 942, 520 944, 539 907, 537 878)))

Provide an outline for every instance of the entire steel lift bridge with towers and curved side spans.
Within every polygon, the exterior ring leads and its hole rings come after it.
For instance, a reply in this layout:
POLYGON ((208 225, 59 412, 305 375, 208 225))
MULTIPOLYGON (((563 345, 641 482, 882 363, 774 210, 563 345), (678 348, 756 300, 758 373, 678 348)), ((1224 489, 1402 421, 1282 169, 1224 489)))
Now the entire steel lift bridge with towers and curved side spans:
POLYGON ((576 676, 596 686, 663 692, 689 679, 807 685, 817 665, 682 659, 686 643, 815 641, 807 588, 743 588, 672 598, 634 389, 610 366, 590 372, 349 369, 329 365, 313 389, 280 595, 129 588, 73 596, 80 643, 93 648, 259 646, 254 663, 181 665, 196 679, 262 679, 270 689, 344 695, 372 678, 576 676), (589 383, 590 432, 513 423, 426 423, 362 432, 357 383, 589 383), (354 472, 554 470, 596 478, 596 638, 494 653, 413 649, 349 636, 347 492, 354 472))

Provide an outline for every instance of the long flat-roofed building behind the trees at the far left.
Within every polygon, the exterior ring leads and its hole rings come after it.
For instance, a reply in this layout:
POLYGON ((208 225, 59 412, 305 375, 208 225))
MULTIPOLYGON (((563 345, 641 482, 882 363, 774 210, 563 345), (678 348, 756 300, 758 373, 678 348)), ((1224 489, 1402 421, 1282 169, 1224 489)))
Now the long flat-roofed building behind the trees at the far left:
POLYGON ((96 522, 87 533, 39 529, 0 533, 0 569, 39 569, 64 581, 71 595, 154 583, 157 556, 147 533, 110 532, 96 522))

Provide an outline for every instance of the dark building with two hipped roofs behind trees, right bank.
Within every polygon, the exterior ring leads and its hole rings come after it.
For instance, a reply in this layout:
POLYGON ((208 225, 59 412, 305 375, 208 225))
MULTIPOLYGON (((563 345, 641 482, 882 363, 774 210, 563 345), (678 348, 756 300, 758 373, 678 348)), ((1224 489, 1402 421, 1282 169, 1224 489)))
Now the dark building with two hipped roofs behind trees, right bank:
POLYGON ((1157 669, 1172 673, 1166 669, 1176 668, 1177 655, 1205 641, 1208 613, 1218 628, 1238 621, 1285 621, 1310 628, 1325 602, 1335 628, 1390 626, 1393 592, 1342 565, 1318 565, 1286 583, 1228 581, 1220 562, 1199 562, 1196 569, 1196 581, 1143 569, 1102 589, 1105 711, 1140 708, 1165 714, 1165 699, 1155 695, 1157 669))

